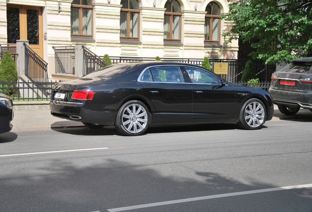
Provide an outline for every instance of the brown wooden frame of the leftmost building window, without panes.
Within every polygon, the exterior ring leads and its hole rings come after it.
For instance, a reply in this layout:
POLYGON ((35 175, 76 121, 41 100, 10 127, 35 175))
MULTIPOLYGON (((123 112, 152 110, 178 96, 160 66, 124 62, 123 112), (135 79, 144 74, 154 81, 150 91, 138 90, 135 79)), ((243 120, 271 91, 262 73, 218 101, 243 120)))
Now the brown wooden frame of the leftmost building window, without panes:
MULTIPOLYGON (((80 4, 71 4, 71 9, 72 8, 78 8, 79 9, 79 30, 78 30, 78 34, 73 34, 71 33, 71 37, 84 37, 84 38, 93 38, 93 5, 83 5, 81 4, 80 0, 80 4), (83 9, 90 9, 91 10, 91 35, 87 35, 87 34, 83 34, 83 9)), ((91 3, 93 3, 93 0, 90 0, 91 3)), ((72 13, 71 13, 71 17, 72 17, 72 13)), ((71 30, 72 30, 72 23, 71 23, 71 30)))

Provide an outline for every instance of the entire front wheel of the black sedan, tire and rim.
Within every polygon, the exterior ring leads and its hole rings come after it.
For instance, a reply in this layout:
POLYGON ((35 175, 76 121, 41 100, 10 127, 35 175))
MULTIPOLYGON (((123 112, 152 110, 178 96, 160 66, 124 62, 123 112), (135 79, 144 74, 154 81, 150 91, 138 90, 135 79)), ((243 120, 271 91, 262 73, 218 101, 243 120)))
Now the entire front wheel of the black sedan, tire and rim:
POLYGON ((240 109, 238 126, 245 130, 258 130, 265 123, 267 112, 256 98, 247 100, 240 109))

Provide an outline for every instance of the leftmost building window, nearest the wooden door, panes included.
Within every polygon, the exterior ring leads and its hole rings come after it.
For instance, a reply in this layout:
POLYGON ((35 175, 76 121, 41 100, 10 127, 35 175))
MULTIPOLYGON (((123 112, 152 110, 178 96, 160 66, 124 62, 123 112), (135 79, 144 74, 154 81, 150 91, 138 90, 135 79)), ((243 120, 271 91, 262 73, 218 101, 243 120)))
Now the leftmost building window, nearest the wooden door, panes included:
POLYGON ((73 0, 71 7, 71 34, 72 36, 92 37, 91 0, 73 0))

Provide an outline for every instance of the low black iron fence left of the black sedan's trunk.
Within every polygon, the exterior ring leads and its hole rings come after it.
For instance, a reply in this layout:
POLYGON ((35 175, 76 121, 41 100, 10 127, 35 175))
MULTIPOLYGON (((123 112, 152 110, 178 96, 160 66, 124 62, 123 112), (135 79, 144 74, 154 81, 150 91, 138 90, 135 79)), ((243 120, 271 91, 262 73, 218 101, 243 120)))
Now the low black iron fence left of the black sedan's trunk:
POLYGON ((0 81, 0 93, 9 95, 13 101, 49 101, 52 86, 59 81, 34 84, 31 81, 0 81))

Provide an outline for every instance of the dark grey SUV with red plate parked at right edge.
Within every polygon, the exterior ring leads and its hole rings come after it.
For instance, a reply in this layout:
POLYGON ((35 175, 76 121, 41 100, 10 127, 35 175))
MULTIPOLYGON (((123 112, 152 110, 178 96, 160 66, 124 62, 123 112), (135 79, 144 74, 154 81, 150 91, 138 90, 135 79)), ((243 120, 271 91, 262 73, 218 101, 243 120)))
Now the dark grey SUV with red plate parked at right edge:
POLYGON ((274 104, 287 115, 300 107, 312 110, 312 57, 293 60, 272 74, 269 93, 274 104))

